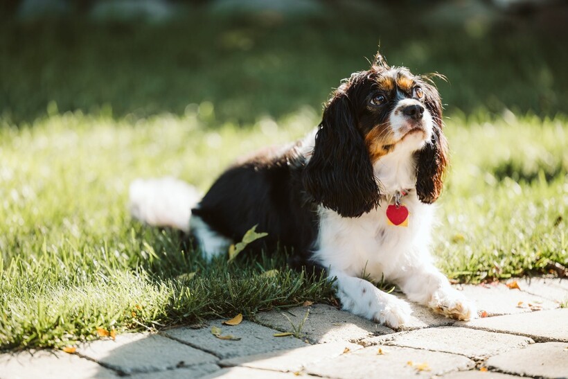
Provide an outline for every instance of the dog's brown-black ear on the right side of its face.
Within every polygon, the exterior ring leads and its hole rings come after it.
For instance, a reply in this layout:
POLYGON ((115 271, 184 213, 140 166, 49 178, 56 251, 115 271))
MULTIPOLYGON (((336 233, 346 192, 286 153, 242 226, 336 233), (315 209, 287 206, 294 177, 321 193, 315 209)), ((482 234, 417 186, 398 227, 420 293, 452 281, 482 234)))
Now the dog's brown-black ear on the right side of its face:
POLYGON ((432 204, 442 192, 443 179, 448 164, 447 140, 443 134, 442 103, 438 91, 427 83, 422 85, 425 105, 432 114, 434 130, 432 139, 416 153, 416 192, 418 199, 432 204))

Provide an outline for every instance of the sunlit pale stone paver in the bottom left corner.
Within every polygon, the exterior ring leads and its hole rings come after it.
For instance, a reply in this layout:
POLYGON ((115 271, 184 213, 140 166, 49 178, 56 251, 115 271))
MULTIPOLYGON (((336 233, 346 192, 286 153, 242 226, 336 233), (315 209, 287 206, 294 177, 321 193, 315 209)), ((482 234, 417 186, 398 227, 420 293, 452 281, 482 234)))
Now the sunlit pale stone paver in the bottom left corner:
POLYGON ((62 351, 24 351, 0 355, 2 379, 118 378, 118 375, 96 362, 62 351))

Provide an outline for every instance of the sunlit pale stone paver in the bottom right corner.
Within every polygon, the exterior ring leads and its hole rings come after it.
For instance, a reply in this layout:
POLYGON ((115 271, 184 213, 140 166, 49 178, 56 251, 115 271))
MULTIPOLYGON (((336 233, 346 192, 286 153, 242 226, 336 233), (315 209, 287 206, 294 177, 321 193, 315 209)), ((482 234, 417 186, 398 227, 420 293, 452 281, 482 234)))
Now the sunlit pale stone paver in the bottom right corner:
POLYGON ((506 373, 542 378, 568 376, 567 344, 546 342, 489 358, 487 365, 506 373))

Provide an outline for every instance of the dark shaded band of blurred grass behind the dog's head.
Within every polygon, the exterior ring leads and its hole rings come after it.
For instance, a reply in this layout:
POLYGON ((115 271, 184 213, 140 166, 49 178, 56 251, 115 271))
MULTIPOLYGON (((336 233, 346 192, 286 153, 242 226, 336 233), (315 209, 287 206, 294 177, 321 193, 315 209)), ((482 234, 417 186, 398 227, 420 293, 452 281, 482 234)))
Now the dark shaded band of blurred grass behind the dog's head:
POLYGON ((391 64, 445 75, 438 85, 450 114, 568 109, 568 7, 561 4, 528 13, 473 0, 314 1, 321 10, 304 12, 215 8, 227 2, 171 3, 181 8, 167 21, 121 21, 118 10, 104 21, 94 10, 4 19, 1 112, 30 122, 53 101, 60 112, 110 107, 114 116, 139 118, 184 114, 188 104, 208 101, 218 121, 251 123, 304 105, 319 110, 379 44, 391 64))

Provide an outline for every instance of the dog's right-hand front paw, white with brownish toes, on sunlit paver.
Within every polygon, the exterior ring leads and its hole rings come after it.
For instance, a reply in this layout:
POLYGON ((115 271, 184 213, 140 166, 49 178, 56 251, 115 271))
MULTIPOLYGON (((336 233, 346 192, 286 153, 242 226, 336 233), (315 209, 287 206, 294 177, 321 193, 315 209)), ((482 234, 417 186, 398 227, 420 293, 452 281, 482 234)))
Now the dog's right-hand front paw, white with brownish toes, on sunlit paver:
POLYGON ((454 288, 441 288, 432 295, 428 306, 435 312, 452 319, 477 319, 475 304, 454 288))

